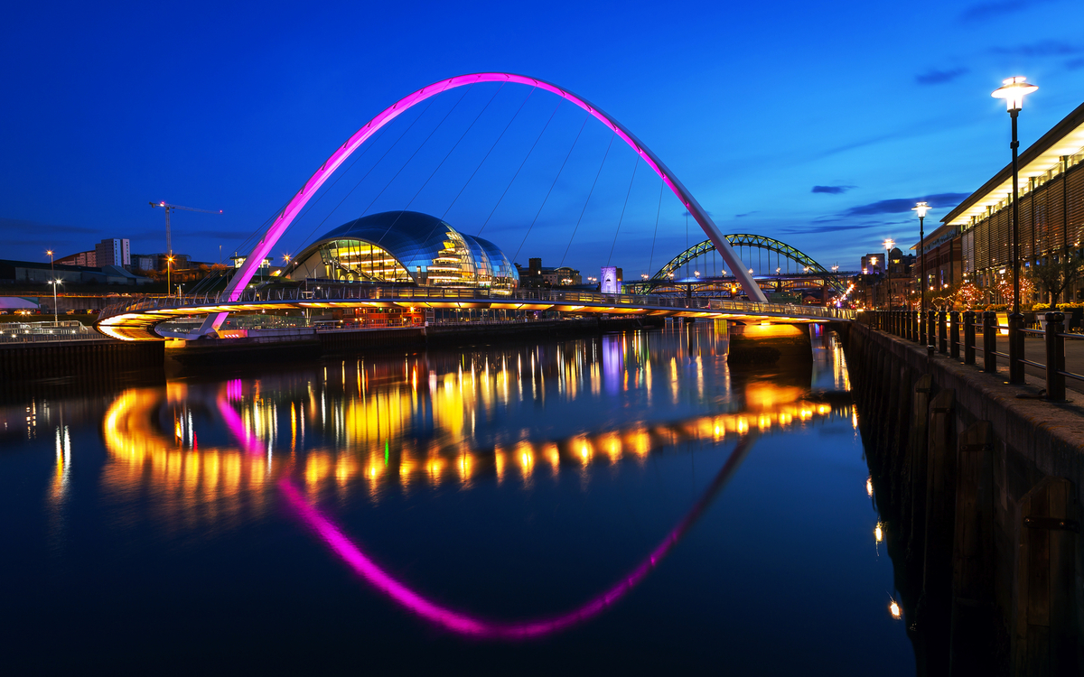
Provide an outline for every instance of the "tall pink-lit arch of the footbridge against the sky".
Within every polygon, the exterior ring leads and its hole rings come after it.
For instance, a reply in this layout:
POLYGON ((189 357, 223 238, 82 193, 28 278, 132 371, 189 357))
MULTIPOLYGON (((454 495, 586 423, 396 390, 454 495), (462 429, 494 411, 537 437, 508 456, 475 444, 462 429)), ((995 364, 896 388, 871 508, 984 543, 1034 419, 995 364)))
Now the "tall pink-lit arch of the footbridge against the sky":
MULTIPOLYGON (((700 207, 700 204, 696 201, 696 198, 682 185, 682 182, 670 171, 670 169, 662 164, 662 160, 651 152, 646 145, 644 145, 638 139, 636 139, 632 132, 624 128, 623 125, 611 118, 605 112, 596 107, 591 102, 577 96, 568 90, 560 89, 556 84, 546 82, 545 80, 539 80, 538 78, 529 78, 522 75, 515 75, 512 73, 475 73, 472 75, 460 75, 454 78, 449 78, 447 80, 441 80, 439 82, 434 82, 427 87, 423 87, 413 94, 403 96, 391 106, 385 108, 373 119, 365 123, 364 127, 359 129, 353 133, 352 136, 347 139, 346 143, 338 147, 335 153, 323 164, 323 166, 317 170, 305 185, 294 195, 289 204, 283 208, 282 212, 275 217, 274 222, 268 232, 263 235, 263 238, 253 248, 253 251, 245 258, 244 264, 242 264, 241 270, 233 276, 230 281, 230 285, 227 287, 227 294, 231 301, 235 301, 241 297, 241 292, 244 290, 245 285, 248 281, 253 278, 253 275, 259 269, 260 262, 268 256, 271 248, 274 246, 279 238, 282 237, 289 224, 293 223, 294 219, 305 207, 306 203, 315 195, 320 186, 335 172, 336 169, 350 156, 351 153, 357 151, 361 144, 365 143, 370 136, 372 136, 378 129, 396 119, 401 113, 414 106, 430 96, 435 96, 441 92, 456 87, 463 87, 465 84, 475 84, 477 82, 517 82, 520 84, 528 84, 530 87, 537 87, 543 89, 547 92, 553 92, 554 94, 576 104, 577 106, 583 108, 592 116, 597 118, 603 125, 614 130, 614 132, 620 136, 629 146, 635 151, 640 157, 655 170, 663 182, 670 190, 673 191, 674 195, 682 201, 682 205, 688 210, 696 222, 700 224, 704 232, 707 233, 708 238, 711 243, 715 245, 715 249, 719 251, 720 256, 730 266, 730 269, 737 276, 738 282, 741 284, 741 288, 745 289, 749 298, 759 301, 761 303, 767 302, 767 298, 764 292, 760 290, 757 283, 753 282, 752 276, 748 273, 745 264, 738 259, 734 249, 731 248, 731 244, 723 236, 722 231, 715 225, 715 222, 711 220, 708 212, 700 207)), ((207 316, 204 322, 203 327, 201 327, 201 333, 207 333, 211 328, 218 328, 221 326, 222 322, 225 320, 228 313, 216 313, 207 316)))

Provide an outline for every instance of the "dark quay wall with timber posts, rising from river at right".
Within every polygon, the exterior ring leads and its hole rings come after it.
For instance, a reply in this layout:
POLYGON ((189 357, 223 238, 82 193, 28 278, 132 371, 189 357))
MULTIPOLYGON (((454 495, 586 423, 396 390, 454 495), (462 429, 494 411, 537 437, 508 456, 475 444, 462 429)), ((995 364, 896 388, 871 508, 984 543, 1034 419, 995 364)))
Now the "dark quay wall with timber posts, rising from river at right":
POLYGON ((843 335, 918 673, 1081 674, 1084 402, 843 335))

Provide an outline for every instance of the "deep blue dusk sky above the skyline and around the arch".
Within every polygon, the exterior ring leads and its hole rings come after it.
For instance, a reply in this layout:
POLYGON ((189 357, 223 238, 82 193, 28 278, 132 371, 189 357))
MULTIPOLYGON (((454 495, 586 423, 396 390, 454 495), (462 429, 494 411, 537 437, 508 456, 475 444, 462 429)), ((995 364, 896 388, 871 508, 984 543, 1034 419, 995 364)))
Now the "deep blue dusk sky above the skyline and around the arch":
MULTIPOLYGON (((47 248, 102 237, 162 251, 164 217, 147 205, 159 199, 223 210, 179 212, 175 250, 209 261, 219 246, 244 251, 370 117, 436 80, 502 70, 623 122, 724 232, 853 270, 885 237, 917 239, 916 199, 938 207, 935 225, 1007 164, 1008 116, 990 96, 1002 78, 1041 88, 1021 115, 1024 146, 1084 101, 1084 5, 1073 0, 255 6, 9 8, 0 258, 48 260, 47 248)), ((627 278, 654 272, 702 239, 629 148, 606 152, 602 125, 567 104, 554 113, 544 92, 498 89, 452 90, 403 114, 276 252, 408 205, 481 231, 519 262, 541 256, 584 274, 607 261, 627 278)))

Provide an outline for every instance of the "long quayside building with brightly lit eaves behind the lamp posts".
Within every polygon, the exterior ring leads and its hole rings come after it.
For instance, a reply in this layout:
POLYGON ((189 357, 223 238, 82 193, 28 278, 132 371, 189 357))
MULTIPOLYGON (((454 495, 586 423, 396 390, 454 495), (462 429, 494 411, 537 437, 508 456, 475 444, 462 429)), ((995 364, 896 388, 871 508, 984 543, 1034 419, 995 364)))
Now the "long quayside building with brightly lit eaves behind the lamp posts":
MULTIPOLYGON (((1075 255, 1084 240, 1084 104, 1023 151, 1019 166, 1020 262, 1028 274, 1075 255)), ((994 289, 1006 275, 1011 278, 1011 214, 1009 165, 927 234, 925 265, 915 266, 916 273, 925 269, 927 288, 973 282, 994 289)), ((1076 286, 1064 290, 1066 300, 1081 298, 1084 288, 1076 286)))

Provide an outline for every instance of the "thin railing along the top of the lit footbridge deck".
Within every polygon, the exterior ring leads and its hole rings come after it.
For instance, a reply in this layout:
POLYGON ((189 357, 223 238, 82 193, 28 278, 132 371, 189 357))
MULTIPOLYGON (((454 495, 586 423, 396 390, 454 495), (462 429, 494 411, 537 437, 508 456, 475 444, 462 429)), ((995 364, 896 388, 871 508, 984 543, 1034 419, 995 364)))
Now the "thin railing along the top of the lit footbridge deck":
MULTIPOLYGON (((420 300, 420 301, 488 301, 491 303, 518 303, 530 305, 535 303, 552 303, 562 305, 605 304, 615 309, 656 308, 687 309, 701 311, 732 311, 738 313, 824 317, 833 320, 854 320, 852 310, 839 308, 822 308, 793 303, 756 303, 752 301, 732 301, 704 297, 673 297, 658 295, 602 294, 597 291, 555 291, 543 289, 524 289, 505 291, 500 289, 449 289, 440 287, 322 287, 314 289, 281 288, 281 289, 245 289, 233 301, 224 292, 188 295, 172 297, 137 297, 114 303, 102 310, 100 317, 111 317, 124 313, 139 313, 170 308, 201 309, 208 305, 237 305, 245 303, 285 302, 321 302, 349 300, 420 300)), ((193 312, 198 312, 194 310, 193 312)))

